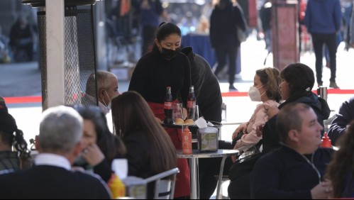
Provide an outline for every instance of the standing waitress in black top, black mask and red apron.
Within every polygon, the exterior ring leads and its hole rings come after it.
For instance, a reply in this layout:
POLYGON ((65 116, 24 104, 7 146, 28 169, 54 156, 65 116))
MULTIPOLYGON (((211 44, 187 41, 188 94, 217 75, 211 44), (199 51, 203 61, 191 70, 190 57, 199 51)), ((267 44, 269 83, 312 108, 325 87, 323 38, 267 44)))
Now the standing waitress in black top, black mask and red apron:
MULTIPOLYGON (((153 110, 156 118, 165 118, 163 109, 166 87, 171 87, 174 100, 180 94, 184 105, 191 86, 191 67, 181 50, 181 30, 173 23, 161 23, 157 29, 153 50, 143 55, 135 66, 128 90, 138 91, 153 110)), ((176 128, 166 128, 177 150, 182 150, 176 128)), ((175 185, 175 198, 190 194, 190 177, 187 159, 179 159, 175 185)))

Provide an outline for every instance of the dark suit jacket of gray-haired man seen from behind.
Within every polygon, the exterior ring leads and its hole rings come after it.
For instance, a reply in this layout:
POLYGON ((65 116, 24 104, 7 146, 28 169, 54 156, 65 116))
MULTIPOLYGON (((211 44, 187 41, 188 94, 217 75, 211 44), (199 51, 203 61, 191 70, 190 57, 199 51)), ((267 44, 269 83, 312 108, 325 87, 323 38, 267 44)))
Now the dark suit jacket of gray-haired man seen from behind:
POLYGON ((0 176, 0 199, 111 199, 106 184, 94 174, 62 167, 34 166, 0 176))

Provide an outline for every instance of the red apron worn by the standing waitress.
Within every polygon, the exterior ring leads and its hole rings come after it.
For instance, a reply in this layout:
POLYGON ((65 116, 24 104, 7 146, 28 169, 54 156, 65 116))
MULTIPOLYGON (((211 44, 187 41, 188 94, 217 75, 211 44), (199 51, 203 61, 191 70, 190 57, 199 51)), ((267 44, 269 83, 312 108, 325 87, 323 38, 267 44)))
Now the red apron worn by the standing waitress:
MULTIPOLYGON (((163 110, 163 104, 157 104, 148 102, 151 110, 157 118, 163 121, 165 118, 165 113, 163 110)), ((179 134, 176 128, 165 128, 168 135, 172 140, 173 145, 175 145, 176 150, 182 150, 182 140, 179 138, 179 134)), ((189 165, 187 159, 178 159, 177 167, 179 168, 179 173, 177 174, 176 184, 175 184, 175 198, 182 196, 190 196, 190 176, 189 176, 189 165)))

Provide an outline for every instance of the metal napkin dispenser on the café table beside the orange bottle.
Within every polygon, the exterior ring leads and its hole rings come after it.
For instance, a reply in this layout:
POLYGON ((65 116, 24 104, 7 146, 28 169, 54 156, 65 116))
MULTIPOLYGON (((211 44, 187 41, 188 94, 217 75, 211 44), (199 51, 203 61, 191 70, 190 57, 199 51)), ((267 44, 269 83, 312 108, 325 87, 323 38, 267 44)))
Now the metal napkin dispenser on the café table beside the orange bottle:
POLYGON ((216 152, 219 149, 218 128, 207 126, 197 130, 199 152, 216 152))

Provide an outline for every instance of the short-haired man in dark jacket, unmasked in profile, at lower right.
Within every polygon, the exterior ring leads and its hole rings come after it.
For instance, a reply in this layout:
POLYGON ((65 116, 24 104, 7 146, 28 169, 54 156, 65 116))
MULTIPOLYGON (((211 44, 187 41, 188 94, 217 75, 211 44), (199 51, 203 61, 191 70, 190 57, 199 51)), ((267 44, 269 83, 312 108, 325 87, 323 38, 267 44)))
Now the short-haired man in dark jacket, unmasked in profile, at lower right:
POLYGON ((319 148, 323 126, 311 106, 285 105, 277 117, 282 145, 260 157, 251 174, 252 199, 327 199, 332 184, 322 179, 333 149, 319 148))

